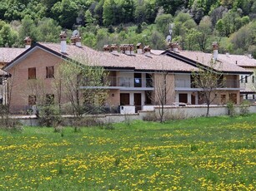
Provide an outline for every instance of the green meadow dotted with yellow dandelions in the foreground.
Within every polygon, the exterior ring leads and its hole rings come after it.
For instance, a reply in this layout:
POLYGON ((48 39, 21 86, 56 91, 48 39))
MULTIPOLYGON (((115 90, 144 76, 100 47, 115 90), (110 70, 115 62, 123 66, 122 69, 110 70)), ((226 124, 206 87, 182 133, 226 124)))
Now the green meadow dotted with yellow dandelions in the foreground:
POLYGON ((0 190, 256 190, 256 115, 0 130, 0 190))

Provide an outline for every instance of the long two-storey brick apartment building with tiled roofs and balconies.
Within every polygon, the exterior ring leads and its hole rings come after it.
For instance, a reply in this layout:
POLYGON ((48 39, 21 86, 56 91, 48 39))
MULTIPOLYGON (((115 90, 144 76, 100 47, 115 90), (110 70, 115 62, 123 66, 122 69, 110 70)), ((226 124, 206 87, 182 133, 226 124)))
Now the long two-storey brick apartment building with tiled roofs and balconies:
MULTIPOLYGON (((213 104, 225 104, 228 100, 240 103, 239 76, 251 75, 235 63, 224 61, 218 57, 218 49, 213 54, 195 51, 181 51, 178 43, 173 43, 166 51, 155 51, 151 47, 142 47, 140 43, 133 45, 106 45, 103 51, 95 51, 82 46, 81 37, 72 37, 71 44, 67 44, 65 32, 60 34, 60 43, 38 42, 13 61, 3 67, 13 78, 13 92, 11 109, 25 110, 33 105, 33 96, 24 96, 23 91, 28 88, 31 79, 42 79, 47 87, 47 95, 53 95, 54 71, 63 61, 86 60, 90 65, 103 66, 108 71, 108 99, 105 105, 119 107, 121 113, 134 113, 138 110, 153 110, 159 104, 156 96, 158 86, 164 81, 168 87, 166 91, 166 105, 200 105, 205 104, 200 88, 193 86, 192 72, 198 71, 198 64, 208 66, 208 61, 215 59, 219 67, 216 71, 223 73, 224 86, 219 88, 218 96, 213 104), (215 56, 215 57, 214 57, 215 56)), ((215 47, 216 49, 216 47, 215 47)), ((81 92, 87 87, 81 87, 81 92)), ((56 97, 56 96, 55 96, 56 97)), ((66 102, 67 100, 62 100, 66 102)))

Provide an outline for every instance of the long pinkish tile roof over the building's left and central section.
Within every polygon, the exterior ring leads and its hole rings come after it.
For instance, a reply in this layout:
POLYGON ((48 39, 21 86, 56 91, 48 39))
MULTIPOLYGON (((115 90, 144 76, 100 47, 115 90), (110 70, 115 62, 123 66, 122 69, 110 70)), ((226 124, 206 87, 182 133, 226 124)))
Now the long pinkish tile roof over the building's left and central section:
MULTIPOLYGON (((43 47, 47 47, 53 51, 60 52, 60 44, 55 43, 38 43, 43 47)), ((158 53, 163 52, 159 51, 158 53)), ((123 53, 112 54, 107 51, 95 51, 89 47, 76 47, 74 45, 67 45, 67 54, 63 54, 73 60, 84 62, 88 59, 90 63, 98 66, 128 68, 133 67, 135 70, 155 71, 155 70, 168 70, 168 71, 198 71, 195 66, 190 66, 183 61, 178 61, 170 56, 155 55, 151 56, 134 54, 129 56, 123 53), (83 61, 81 61, 83 60, 83 61)))

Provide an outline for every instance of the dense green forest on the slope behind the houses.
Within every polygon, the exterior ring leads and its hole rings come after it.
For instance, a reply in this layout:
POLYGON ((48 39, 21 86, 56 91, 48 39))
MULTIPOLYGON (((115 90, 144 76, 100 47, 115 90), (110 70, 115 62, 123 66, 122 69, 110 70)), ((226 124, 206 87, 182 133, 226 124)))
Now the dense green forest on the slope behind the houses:
POLYGON ((185 50, 256 57, 255 0, 0 0, 0 47, 23 47, 23 39, 58 42, 61 30, 80 32, 83 44, 142 42, 166 49, 172 41, 185 50))

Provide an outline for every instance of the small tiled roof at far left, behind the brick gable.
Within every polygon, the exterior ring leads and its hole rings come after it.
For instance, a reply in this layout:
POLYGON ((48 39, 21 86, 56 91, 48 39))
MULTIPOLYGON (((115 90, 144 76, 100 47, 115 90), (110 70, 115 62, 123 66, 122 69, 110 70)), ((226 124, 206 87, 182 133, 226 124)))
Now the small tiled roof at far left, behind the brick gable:
POLYGON ((8 63, 26 51, 25 48, 0 47, 0 62, 8 63))

